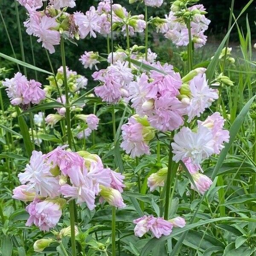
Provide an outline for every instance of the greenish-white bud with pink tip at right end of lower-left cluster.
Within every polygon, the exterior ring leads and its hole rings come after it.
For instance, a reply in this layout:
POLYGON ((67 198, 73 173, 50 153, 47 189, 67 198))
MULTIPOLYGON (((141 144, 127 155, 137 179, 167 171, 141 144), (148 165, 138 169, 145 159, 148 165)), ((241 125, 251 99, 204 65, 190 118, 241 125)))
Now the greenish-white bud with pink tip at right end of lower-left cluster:
POLYGON ((108 202, 108 204, 117 208, 124 208, 126 206, 121 193, 117 189, 108 188, 102 185, 99 185, 99 187, 101 189, 99 194, 108 202))

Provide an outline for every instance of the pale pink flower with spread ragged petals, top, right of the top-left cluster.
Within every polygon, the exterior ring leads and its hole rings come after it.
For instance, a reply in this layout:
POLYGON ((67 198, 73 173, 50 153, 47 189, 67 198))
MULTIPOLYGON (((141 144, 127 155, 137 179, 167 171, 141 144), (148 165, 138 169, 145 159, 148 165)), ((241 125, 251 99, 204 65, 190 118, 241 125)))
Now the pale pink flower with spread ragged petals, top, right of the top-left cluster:
POLYGON ((81 39, 85 38, 89 33, 90 37, 96 38, 95 32, 100 32, 101 27, 99 26, 99 14, 96 12, 95 7, 91 6, 89 11, 85 15, 81 12, 74 13, 74 20, 81 39))

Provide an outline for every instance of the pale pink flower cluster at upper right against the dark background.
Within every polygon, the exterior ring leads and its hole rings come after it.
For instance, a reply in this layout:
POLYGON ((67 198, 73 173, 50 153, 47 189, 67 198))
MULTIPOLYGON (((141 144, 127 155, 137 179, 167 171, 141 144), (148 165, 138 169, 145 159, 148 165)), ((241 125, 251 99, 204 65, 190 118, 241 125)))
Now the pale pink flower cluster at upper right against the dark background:
MULTIPOLYGON (((195 5, 188 8, 188 11, 193 10, 204 11, 203 5, 195 5)), ((191 22, 191 34, 192 41, 195 43, 195 48, 202 47, 206 44, 207 36, 204 35, 204 31, 208 29, 210 20, 205 15, 196 13, 193 15, 191 22)), ((186 46, 189 44, 189 30, 184 23, 184 20, 175 15, 175 12, 169 12, 166 15, 166 24, 160 24, 157 26, 157 31, 164 33, 165 37, 172 40, 177 46, 186 46)))

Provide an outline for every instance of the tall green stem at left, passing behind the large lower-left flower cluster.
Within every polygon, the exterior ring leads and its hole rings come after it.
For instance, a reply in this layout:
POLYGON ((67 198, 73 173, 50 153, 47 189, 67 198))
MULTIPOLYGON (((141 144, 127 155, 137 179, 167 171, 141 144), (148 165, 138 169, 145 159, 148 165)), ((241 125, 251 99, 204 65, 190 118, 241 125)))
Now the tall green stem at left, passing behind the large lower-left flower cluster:
MULTIPOLYGON (((71 120, 70 120, 70 105, 68 98, 68 87, 67 87, 67 70, 66 70, 66 59, 65 59, 65 49, 64 49, 64 39, 61 37, 61 61, 63 67, 63 76, 64 76, 64 87, 65 87, 65 96, 66 96, 66 122, 67 122, 67 141, 72 148, 72 132, 71 132, 71 120)), ((71 200, 69 203, 70 211, 70 227, 71 227, 71 247, 72 247, 72 256, 76 256, 76 236, 75 236, 75 204, 71 200)))

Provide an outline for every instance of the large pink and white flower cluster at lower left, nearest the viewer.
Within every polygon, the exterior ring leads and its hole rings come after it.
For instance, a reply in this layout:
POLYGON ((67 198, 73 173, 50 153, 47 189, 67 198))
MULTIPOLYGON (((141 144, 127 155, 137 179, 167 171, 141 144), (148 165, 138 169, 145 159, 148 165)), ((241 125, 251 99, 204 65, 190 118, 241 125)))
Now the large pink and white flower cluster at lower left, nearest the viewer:
POLYGON ((124 176, 104 168, 98 155, 65 148, 67 145, 58 146, 48 154, 33 151, 25 172, 18 175, 22 185, 13 190, 13 198, 32 201, 26 207, 28 226, 34 223, 41 230, 54 227, 61 217, 64 198, 85 202, 92 210, 96 196, 101 195, 109 204, 125 207, 120 194, 125 187, 124 176))

